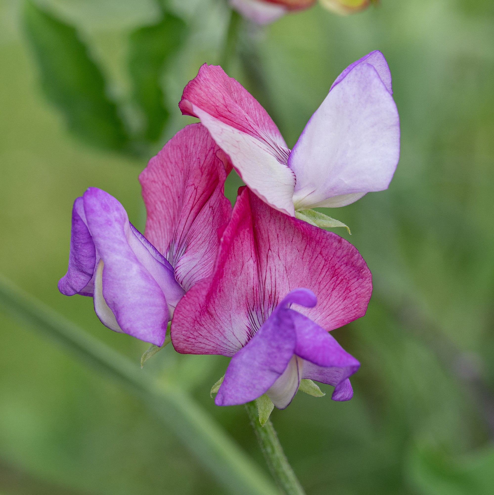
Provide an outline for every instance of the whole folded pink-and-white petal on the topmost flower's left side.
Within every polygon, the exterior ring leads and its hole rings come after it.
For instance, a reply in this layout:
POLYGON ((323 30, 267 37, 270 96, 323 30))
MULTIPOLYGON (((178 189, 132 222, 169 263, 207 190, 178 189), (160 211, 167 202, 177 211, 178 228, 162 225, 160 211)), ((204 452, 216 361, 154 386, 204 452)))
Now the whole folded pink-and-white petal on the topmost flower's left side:
POLYGON ((266 110, 219 66, 204 64, 183 90, 183 114, 201 119, 249 188, 294 215, 288 149, 266 110))

